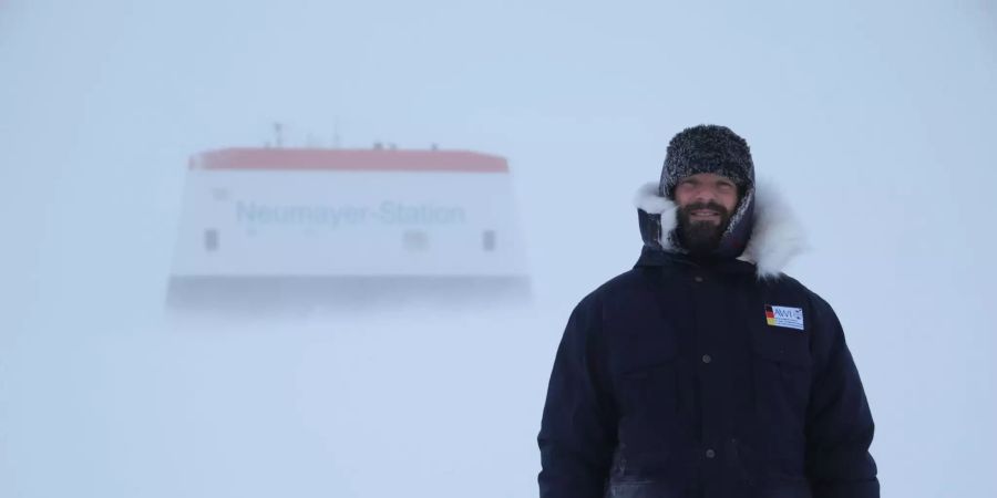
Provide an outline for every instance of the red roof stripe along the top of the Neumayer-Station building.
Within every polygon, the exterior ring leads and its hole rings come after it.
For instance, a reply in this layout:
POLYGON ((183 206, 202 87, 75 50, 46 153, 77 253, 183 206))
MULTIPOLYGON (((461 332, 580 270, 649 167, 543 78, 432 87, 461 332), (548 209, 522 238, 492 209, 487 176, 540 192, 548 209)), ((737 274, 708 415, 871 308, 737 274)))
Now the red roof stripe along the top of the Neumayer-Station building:
POLYGON ((224 148, 191 158, 193 169, 333 169, 507 173, 504 158, 467 151, 224 148))

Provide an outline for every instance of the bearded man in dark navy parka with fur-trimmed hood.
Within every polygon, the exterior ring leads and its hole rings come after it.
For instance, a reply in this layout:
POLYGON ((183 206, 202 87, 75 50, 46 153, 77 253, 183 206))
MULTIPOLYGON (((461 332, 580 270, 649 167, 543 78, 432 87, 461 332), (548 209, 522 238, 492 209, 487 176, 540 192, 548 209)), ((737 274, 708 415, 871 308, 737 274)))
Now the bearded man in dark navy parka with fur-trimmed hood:
POLYGON ((831 307, 743 138, 682 131, 637 197, 633 270, 575 308, 538 436, 542 498, 877 498, 873 421, 831 307))

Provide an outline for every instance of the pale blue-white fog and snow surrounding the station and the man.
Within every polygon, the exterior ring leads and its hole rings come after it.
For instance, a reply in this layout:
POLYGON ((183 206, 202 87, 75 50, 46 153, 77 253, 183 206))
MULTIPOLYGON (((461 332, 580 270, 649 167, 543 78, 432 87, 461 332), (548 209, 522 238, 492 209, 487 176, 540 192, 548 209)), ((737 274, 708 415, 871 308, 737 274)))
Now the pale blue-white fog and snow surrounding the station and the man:
POLYGON ((567 315, 699 123, 808 228, 883 496, 997 496, 990 0, 0 0, 0 71, 2 497, 536 496, 567 315), (275 122, 507 158, 530 303, 168 310, 188 158, 275 122))

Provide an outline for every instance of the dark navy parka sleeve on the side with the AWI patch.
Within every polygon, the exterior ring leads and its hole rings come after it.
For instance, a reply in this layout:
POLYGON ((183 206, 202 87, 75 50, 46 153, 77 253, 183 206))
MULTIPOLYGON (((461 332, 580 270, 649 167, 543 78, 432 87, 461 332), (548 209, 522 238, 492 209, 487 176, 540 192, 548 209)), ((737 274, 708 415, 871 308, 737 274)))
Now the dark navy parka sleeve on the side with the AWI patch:
POLYGON ((813 385, 806 421, 806 474, 814 498, 878 498, 868 453, 874 424, 841 322, 816 297, 813 385))

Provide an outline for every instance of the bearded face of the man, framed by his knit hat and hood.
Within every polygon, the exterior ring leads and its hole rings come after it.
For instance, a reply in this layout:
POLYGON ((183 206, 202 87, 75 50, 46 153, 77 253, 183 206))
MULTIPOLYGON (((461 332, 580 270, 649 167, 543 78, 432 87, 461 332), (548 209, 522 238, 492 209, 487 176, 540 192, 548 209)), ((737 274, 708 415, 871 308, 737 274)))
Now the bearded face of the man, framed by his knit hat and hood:
POLYGON ((712 173, 699 173, 679 180, 675 187, 678 236, 693 255, 717 249, 740 196, 733 180, 712 173))

